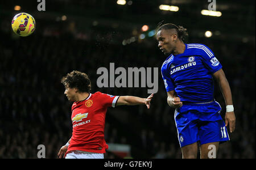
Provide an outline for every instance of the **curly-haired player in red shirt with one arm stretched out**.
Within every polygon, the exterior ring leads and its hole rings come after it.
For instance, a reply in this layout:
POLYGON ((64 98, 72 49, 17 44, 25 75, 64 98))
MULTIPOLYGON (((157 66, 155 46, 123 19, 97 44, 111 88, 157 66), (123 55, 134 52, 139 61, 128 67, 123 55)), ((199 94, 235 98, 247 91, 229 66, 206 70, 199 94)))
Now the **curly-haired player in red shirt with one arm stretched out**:
POLYGON ((66 145, 60 148, 59 158, 104 158, 108 149, 104 139, 105 116, 109 107, 118 105, 145 104, 150 108, 153 94, 147 98, 136 96, 111 96, 96 92, 90 93, 88 75, 72 71, 61 79, 65 95, 72 105, 73 133, 66 145))

